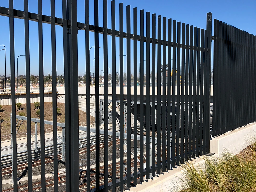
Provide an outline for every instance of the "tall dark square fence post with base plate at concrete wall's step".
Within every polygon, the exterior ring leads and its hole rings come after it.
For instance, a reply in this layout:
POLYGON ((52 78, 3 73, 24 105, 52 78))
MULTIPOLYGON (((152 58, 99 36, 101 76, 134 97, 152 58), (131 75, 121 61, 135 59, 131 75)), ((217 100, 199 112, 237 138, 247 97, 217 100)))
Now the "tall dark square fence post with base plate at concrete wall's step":
POLYGON ((206 100, 204 101, 205 106, 205 112, 206 114, 204 115, 205 120, 205 148, 206 148, 206 154, 207 156, 211 156, 214 153, 210 153, 210 98, 211 98, 211 42, 212 42, 212 13, 207 13, 207 21, 206 21, 206 37, 207 38, 207 59, 205 63, 205 68, 206 68, 206 91, 205 91, 205 98, 206 100))

